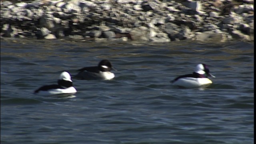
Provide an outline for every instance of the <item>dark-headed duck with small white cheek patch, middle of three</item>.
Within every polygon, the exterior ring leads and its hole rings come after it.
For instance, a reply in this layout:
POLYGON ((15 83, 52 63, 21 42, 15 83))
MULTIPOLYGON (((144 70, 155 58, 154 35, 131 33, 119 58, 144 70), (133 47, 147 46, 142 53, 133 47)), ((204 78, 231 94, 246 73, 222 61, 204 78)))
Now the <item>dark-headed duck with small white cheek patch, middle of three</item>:
POLYGON ((101 60, 98 66, 81 68, 76 77, 82 80, 110 80, 115 77, 115 74, 110 70, 116 70, 112 67, 109 60, 101 60))

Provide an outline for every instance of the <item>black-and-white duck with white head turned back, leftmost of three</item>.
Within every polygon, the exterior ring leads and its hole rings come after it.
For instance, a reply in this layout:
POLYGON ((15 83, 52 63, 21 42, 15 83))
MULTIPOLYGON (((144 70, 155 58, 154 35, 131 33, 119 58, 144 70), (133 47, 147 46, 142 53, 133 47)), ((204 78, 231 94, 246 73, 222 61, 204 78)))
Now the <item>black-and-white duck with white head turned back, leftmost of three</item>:
POLYGON ((62 72, 58 80, 58 84, 46 85, 35 90, 34 94, 40 96, 52 96, 52 95, 62 95, 75 94, 76 88, 73 87, 71 76, 68 72, 62 72))

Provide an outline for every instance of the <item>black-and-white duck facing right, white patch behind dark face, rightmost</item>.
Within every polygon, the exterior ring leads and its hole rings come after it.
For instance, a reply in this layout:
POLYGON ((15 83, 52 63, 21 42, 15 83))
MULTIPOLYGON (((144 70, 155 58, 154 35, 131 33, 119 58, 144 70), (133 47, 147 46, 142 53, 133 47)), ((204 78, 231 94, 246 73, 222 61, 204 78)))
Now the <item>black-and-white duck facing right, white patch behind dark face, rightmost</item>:
POLYGON ((172 84, 184 88, 197 88, 200 86, 208 86, 212 84, 212 81, 208 79, 208 76, 215 78, 210 74, 210 70, 206 64, 198 64, 193 74, 186 74, 178 76, 172 80, 172 84))

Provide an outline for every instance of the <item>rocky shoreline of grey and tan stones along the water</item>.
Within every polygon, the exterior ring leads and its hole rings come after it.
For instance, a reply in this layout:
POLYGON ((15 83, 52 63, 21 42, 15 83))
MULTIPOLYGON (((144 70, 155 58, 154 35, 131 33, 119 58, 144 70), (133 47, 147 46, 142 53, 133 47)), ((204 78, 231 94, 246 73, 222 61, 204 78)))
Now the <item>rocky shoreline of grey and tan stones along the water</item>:
POLYGON ((254 0, 1 0, 1 38, 254 42, 254 0))

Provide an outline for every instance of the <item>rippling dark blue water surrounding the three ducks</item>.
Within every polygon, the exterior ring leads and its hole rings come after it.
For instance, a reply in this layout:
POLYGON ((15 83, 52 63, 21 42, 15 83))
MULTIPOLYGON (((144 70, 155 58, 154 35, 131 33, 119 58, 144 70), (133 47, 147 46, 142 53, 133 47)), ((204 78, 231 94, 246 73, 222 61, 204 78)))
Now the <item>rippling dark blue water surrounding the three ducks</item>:
POLYGON ((1 40, 1 144, 252 144, 254 43, 1 40), (109 59, 116 78, 73 79, 73 98, 36 96, 59 74, 109 59), (206 63, 204 89, 170 84, 206 63))

